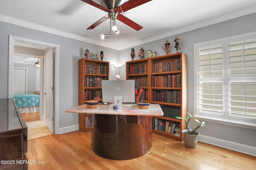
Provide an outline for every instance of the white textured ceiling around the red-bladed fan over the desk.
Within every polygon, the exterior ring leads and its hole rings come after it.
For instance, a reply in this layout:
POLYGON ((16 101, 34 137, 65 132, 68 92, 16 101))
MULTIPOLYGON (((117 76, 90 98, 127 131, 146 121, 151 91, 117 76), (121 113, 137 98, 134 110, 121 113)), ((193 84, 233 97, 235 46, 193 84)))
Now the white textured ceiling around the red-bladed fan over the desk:
POLYGON ((254 12, 255 0, 152 0, 122 13, 143 29, 136 31, 117 20, 120 33, 102 40, 100 34, 110 33, 109 19, 94 29, 86 28, 107 13, 81 0, 1 0, 0 3, 2 21, 7 16, 12 23, 22 25, 20 20, 27 21, 27 27, 38 29, 42 25, 44 29, 51 28, 49 32, 59 30, 118 50, 254 12))

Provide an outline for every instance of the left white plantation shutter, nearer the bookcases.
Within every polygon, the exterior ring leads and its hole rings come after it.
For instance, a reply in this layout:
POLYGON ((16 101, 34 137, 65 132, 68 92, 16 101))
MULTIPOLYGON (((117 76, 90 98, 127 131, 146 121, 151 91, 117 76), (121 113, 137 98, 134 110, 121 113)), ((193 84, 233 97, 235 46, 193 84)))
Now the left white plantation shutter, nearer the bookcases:
POLYGON ((199 109, 212 114, 223 113, 222 45, 199 49, 199 109))

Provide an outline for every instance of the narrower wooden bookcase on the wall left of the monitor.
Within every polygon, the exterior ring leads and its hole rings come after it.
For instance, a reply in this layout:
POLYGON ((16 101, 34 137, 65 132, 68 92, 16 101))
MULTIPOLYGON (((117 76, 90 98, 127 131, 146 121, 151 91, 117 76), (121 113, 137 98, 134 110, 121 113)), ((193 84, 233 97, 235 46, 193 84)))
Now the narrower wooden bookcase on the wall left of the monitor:
MULTIPOLYGON (((101 80, 109 80, 109 63, 93 59, 80 59, 78 66, 78 105, 85 104, 87 100, 99 98, 102 102, 101 80)), ((91 114, 79 113, 79 130, 91 129, 86 120, 91 114)))

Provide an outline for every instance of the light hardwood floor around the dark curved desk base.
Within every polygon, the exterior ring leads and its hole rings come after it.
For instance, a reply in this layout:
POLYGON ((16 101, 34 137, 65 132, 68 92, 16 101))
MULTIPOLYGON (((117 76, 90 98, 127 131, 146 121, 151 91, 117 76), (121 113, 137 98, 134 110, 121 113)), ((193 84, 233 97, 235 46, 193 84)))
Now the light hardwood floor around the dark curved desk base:
POLYGON ((73 131, 28 141, 30 170, 255 170, 256 157, 199 142, 184 142, 153 134, 152 148, 132 160, 108 160, 92 151, 91 131, 73 131), (38 164, 38 161, 43 164, 38 164))

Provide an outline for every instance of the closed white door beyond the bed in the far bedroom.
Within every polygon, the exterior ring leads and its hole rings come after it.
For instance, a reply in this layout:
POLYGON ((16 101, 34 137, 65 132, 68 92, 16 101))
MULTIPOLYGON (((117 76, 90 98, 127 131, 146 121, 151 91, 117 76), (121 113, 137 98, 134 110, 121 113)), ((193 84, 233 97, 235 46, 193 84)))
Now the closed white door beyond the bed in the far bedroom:
POLYGON ((26 93, 26 68, 14 68, 14 84, 13 94, 25 94, 26 93))

